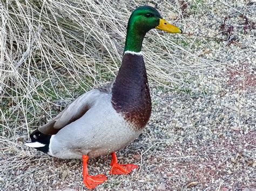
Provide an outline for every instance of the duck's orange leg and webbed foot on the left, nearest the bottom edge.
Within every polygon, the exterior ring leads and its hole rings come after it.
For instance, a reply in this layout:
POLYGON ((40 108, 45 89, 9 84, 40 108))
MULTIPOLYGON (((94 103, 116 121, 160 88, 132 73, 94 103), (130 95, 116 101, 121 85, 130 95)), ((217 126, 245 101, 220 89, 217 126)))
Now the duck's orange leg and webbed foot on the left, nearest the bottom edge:
POLYGON ((87 155, 83 155, 83 179, 85 186, 89 189, 93 189, 100 183, 106 181, 107 178, 104 174, 98 174, 96 176, 89 175, 87 170, 88 159, 89 157, 87 155))

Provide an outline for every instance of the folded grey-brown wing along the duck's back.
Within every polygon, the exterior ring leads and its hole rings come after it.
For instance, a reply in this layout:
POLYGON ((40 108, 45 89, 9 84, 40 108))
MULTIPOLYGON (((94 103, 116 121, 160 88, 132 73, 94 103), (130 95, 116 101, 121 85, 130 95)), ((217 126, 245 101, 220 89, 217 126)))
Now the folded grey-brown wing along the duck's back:
POLYGON ((93 89, 79 96, 49 123, 38 128, 44 134, 55 135, 64 126, 76 121, 88 111, 104 92, 93 89))

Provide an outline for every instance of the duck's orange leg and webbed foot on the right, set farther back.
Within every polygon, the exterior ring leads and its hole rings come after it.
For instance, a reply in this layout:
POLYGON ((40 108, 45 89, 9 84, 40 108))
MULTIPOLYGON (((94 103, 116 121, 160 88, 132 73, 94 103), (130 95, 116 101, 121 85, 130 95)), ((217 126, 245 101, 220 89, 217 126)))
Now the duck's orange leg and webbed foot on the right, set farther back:
POLYGON ((126 165, 120 165, 117 163, 117 156, 116 153, 111 153, 112 155, 112 161, 111 161, 111 170, 110 174, 129 174, 134 168, 138 168, 137 165, 133 164, 126 164, 126 165))

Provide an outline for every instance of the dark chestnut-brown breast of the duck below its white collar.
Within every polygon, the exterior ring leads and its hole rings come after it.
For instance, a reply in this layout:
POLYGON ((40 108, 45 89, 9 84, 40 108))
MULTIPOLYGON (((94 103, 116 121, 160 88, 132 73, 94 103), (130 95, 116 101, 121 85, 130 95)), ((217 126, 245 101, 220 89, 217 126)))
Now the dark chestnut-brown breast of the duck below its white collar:
POLYGON ((151 98, 143 56, 124 54, 112 87, 112 105, 136 129, 146 126, 151 115, 151 98))

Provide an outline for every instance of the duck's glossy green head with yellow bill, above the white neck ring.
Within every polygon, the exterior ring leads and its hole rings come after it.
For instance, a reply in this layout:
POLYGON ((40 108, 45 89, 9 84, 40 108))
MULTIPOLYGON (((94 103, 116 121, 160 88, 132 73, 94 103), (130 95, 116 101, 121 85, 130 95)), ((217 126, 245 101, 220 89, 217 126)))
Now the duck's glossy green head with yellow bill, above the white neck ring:
POLYGON ((140 52, 145 34, 151 29, 160 29, 170 33, 182 31, 165 21, 152 6, 140 6, 130 16, 124 51, 140 52))

